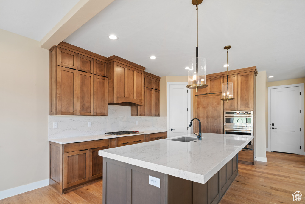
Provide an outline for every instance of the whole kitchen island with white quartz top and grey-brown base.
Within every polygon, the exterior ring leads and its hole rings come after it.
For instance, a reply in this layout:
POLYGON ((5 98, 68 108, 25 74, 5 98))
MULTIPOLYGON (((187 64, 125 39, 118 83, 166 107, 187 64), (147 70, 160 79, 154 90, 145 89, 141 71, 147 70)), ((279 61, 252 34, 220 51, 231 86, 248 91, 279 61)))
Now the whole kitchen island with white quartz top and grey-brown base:
POLYGON ((218 203, 238 174, 238 152, 253 136, 202 133, 202 140, 172 139, 100 150, 103 204, 218 203))

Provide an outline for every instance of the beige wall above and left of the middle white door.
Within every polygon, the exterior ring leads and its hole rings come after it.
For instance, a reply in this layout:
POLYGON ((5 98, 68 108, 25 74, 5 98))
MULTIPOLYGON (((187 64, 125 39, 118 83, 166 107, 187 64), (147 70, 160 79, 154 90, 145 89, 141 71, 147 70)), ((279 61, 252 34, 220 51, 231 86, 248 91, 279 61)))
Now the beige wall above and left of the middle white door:
MULTIPOLYGON (((188 82, 188 76, 162 76, 161 77, 161 79, 160 79, 160 117, 167 116, 167 82, 188 82)), ((191 106, 192 106, 192 101, 191 101, 191 106)), ((191 109, 192 109, 192 107, 191 107, 191 109)))

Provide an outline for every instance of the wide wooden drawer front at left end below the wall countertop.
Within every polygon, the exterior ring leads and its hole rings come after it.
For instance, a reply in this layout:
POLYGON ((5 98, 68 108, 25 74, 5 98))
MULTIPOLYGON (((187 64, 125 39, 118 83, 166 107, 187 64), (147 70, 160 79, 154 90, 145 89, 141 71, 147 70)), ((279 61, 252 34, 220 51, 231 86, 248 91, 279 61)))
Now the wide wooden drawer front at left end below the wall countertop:
POLYGON ((100 139, 100 140, 86 141, 80 143, 64 144, 63 152, 66 153, 66 152, 87 150, 87 149, 92 149, 96 147, 105 147, 105 146, 109 146, 109 139, 100 139))

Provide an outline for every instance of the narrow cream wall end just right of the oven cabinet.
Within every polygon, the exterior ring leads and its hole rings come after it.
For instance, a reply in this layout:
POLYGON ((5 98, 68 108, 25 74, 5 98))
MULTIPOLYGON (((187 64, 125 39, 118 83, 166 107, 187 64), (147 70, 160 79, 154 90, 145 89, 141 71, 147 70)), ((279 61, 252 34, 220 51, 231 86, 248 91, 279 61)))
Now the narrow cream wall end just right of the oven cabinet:
POLYGON ((256 77, 256 156, 259 161, 266 158, 266 71, 256 77))

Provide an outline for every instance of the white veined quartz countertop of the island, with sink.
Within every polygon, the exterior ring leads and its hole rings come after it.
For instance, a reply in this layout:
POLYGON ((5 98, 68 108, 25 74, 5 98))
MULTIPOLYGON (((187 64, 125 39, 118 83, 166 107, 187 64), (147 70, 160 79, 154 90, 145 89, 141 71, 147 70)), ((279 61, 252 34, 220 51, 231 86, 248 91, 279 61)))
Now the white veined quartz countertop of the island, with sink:
MULTIPOLYGON (((195 134, 184 136, 196 137, 195 134)), ((202 133, 202 140, 179 142, 170 139, 174 138, 99 150, 99 155, 205 184, 253 136, 202 133)))

